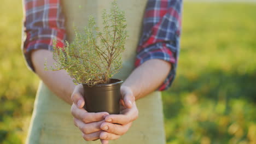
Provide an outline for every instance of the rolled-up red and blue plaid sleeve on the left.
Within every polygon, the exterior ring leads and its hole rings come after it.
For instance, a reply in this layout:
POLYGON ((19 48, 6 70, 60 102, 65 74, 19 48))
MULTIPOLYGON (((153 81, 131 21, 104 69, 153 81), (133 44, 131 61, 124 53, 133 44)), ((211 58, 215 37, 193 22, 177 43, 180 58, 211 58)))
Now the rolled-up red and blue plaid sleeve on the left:
POLYGON ((24 0, 24 27, 22 51, 29 68, 34 71, 31 52, 52 50, 53 40, 62 47, 65 43, 65 18, 60 0, 24 0))

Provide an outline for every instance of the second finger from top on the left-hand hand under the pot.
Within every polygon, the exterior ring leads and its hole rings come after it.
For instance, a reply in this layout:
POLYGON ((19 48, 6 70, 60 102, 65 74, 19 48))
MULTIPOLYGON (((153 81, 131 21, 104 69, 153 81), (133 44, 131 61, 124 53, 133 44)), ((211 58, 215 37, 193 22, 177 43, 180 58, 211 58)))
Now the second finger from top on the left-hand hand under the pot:
POLYGON ((104 122, 104 120, 100 122, 92 122, 85 124, 82 121, 80 121, 77 118, 74 118, 75 125, 84 133, 84 134, 91 134, 95 133, 96 131, 101 130, 101 124, 104 122))

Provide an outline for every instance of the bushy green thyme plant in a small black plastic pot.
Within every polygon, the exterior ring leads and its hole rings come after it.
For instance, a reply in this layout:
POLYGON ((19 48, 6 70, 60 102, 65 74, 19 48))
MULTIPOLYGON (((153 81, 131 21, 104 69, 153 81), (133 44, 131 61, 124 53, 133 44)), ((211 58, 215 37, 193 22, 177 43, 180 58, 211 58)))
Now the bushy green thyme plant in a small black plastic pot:
POLYGON ((75 84, 84 87, 85 110, 88 112, 106 111, 119 113, 120 86, 123 82, 111 77, 118 73, 121 53, 125 49, 126 19, 117 2, 112 2, 110 11, 102 11, 103 27, 96 26, 94 17, 89 17, 84 32, 75 31, 72 43, 66 46, 53 44, 54 65, 45 70, 64 69, 75 84))

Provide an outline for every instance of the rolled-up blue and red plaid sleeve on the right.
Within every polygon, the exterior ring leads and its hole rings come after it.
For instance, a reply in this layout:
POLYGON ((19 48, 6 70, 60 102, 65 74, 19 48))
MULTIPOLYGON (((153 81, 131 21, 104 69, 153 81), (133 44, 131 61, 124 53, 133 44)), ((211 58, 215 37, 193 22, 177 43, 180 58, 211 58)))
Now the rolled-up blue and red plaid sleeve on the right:
POLYGON ((159 91, 170 87, 176 75, 181 13, 181 0, 149 0, 145 10, 135 66, 138 67, 149 59, 162 59, 172 64, 159 91))

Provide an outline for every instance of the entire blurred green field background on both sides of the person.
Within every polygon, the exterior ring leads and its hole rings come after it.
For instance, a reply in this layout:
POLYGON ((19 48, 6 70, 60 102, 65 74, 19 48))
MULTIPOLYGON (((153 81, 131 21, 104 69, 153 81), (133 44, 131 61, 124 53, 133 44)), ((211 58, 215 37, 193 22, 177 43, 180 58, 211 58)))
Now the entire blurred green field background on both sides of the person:
MULTIPOLYGON (((0 5, 3 144, 25 142, 39 82, 21 54, 21 5, 0 5)), ((162 96, 167 143, 256 143, 255 57, 255 1, 185 1, 177 77, 162 96)))

